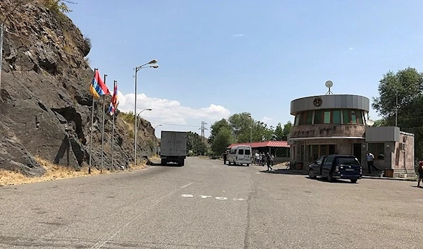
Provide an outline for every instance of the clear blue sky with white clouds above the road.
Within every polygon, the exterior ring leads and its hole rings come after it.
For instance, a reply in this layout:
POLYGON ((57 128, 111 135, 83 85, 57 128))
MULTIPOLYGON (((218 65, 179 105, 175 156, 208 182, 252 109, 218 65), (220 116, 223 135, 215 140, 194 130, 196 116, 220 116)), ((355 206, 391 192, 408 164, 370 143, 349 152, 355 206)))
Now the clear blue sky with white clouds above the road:
MULTIPOLYGON (((192 130, 249 112, 293 121, 290 102, 333 94, 379 96, 379 80, 423 71, 423 1, 76 0, 68 16, 90 37, 92 68, 118 81, 121 111, 161 130, 192 130)), ((370 119, 378 119, 370 111, 370 119)), ((206 136, 209 130, 206 130, 206 136)))

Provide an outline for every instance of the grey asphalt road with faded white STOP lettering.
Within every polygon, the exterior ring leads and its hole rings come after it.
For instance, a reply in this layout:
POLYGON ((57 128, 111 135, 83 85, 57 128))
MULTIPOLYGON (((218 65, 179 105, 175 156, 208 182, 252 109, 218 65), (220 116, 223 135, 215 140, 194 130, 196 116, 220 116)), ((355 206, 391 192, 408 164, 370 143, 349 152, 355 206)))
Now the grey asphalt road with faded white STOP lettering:
POLYGON ((423 248, 415 182, 188 159, 0 188, 0 248, 423 248))

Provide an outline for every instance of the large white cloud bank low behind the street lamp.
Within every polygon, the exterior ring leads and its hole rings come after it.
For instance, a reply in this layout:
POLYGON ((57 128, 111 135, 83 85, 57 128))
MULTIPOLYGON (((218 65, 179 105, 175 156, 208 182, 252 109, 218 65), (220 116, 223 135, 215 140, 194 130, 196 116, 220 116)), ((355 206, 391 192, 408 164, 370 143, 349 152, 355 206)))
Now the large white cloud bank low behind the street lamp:
MULTIPOLYGON (((134 111, 135 94, 123 95, 118 92, 118 109, 120 111, 134 111)), ((177 100, 159 99, 147 97, 145 94, 137 95, 137 112, 142 109, 152 109, 143 111, 140 116, 152 123, 171 123, 178 125, 201 126, 201 121, 212 123, 220 119, 227 119, 231 111, 217 104, 210 104, 208 107, 193 109, 183 107, 177 100)))

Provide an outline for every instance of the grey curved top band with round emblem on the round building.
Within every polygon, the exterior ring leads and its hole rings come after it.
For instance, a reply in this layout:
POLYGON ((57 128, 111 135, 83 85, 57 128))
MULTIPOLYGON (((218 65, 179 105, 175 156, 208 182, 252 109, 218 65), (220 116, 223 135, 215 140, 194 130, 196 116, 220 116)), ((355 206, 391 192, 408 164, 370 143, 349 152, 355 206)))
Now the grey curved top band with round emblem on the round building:
POLYGON ((319 95, 294 99, 290 103, 290 114, 294 115, 300 111, 315 109, 360 109, 369 111, 370 101, 367 97, 360 95, 319 95), (314 106, 314 99, 321 99, 321 106, 314 106))

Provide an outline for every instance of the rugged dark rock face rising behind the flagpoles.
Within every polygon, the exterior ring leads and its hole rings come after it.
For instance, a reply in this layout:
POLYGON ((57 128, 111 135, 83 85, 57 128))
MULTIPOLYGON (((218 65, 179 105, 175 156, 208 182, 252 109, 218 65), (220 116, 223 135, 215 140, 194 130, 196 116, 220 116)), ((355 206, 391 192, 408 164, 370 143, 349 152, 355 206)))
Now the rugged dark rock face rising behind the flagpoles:
MULTIPOLYGON (((72 21, 50 11, 42 1, 2 0, 4 22, 3 65, 0 90, 0 168, 39 176, 45 170, 38 156, 54 164, 78 169, 90 159, 92 97, 89 86, 94 72, 85 56, 86 39, 72 21)), ((101 70, 101 69, 100 69, 101 70)), ((104 98, 106 108, 110 97, 104 98)), ((92 165, 102 156, 102 100, 94 105, 92 165)), ((133 123, 119 114, 115 119, 115 167, 133 160, 133 123), (132 126, 131 126, 132 125, 132 126)), ((138 152, 152 153, 154 129, 140 121, 138 152)), ((106 114, 104 168, 111 167, 112 118, 106 114)), ((154 145, 154 143, 153 143, 154 145)))

